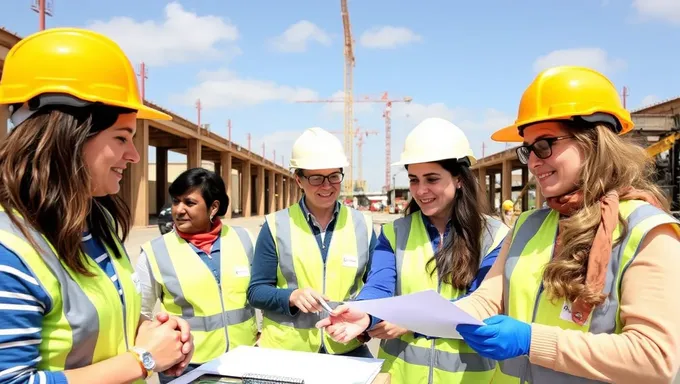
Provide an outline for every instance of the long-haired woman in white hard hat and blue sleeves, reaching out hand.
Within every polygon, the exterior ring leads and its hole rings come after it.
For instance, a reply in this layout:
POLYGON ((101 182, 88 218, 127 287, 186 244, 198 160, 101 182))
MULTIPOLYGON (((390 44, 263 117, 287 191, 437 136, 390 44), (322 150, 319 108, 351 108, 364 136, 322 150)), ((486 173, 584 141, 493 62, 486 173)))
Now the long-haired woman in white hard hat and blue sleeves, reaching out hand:
MULTIPOLYGON (((449 121, 425 119, 409 133, 400 161, 412 199, 406 215, 385 224, 368 281, 357 300, 428 289, 448 300, 474 291, 493 265, 509 228, 485 214, 487 204, 470 166, 476 159, 465 134, 449 121), (396 292, 395 292, 396 288, 396 292)), ((340 306, 325 319, 328 334, 346 342, 368 329, 381 340, 383 370, 395 384, 488 383, 496 362, 456 339, 439 339, 340 306)))

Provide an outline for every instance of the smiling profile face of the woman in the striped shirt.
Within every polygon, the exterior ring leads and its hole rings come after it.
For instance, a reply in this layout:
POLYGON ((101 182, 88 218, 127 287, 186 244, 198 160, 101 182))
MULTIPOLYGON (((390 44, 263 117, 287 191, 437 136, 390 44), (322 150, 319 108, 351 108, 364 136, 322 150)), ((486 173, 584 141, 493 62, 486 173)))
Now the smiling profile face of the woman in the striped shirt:
POLYGON ((139 161, 139 153, 132 142, 136 127, 136 113, 119 115, 111 127, 83 145, 83 159, 92 178, 92 196, 118 193, 123 171, 128 164, 139 161))

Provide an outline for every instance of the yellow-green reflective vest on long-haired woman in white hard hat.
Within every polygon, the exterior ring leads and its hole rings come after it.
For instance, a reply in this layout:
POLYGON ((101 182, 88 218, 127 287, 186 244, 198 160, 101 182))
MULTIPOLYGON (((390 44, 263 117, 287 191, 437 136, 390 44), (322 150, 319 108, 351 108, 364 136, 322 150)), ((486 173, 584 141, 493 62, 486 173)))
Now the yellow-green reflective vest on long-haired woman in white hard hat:
MULTIPOLYGON (((491 217, 486 220, 481 235, 480 264, 509 231, 499 220, 491 217)), ((435 289, 449 300, 465 294, 451 284, 440 284, 437 273, 429 273, 427 262, 434 256, 434 250, 420 212, 385 224, 383 232, 395 250, 397 294, 435 289)), ((427 340, 415 338, 412 332, 398 339, 383 340, 378 357, 385 359, 383 371, 390 373, 395 384, 488 383, 496 366, 495 361, 479 356, 462 340, 427 340)))

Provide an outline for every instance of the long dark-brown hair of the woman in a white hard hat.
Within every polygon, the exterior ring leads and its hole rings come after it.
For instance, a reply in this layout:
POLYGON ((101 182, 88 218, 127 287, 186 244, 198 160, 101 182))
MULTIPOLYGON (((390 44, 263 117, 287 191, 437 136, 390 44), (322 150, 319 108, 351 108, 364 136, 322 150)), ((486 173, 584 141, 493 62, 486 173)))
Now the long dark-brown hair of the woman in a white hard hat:
MULTIPOLYGON (((430 275, 438 273, 439 281, 458 289, 467 289, 479 270, 481 239, 486 228, 487 203, 480 195, 477 178, 466 164, 456 159, 437 161, 452 177, 460 180, 451 208, 451 229, 442 247, 427 262, 430 275), (434 266, 432 265, 434 263, 434 266)), ((411 199, 405 214, 420 211, 411 199)))

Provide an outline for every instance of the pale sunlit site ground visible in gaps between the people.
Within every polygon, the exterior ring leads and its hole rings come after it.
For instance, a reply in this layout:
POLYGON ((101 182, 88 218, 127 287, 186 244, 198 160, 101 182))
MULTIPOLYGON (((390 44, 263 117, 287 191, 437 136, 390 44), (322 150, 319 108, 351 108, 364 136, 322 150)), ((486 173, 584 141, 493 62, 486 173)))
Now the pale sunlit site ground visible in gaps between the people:
MULTIPOLYGON (((400 217, 400 215, 393 214, 391 215, 388 213, 375 213, 375 212, 371 213, 371 215, 373 216, 373 223, 375 224, 376 234, 379 233, 380 224, 391 222, 400 217)), ((262 226, 263 222, 264 222, 263 216, 240 217, 224 220, 224 223, 247 228, 255 238, 257 238, 257 235, 260 233, 260 227, 262 226)), ((130 258, 132 258, 133 263, 137 262, 137 257, 139 256, 139 249, 141 245, 157 236, 160 236, 160 231, 158 230, 157 226, 136 227, 132 230, 130 236, 125 242, 125 249, 130 255, 130 258)), ((156 310, 158 310, 158 307, 159 306, 157 305, 156 310)), ((369 347, 373 355, 377 356, 378 341, 371 340, 371 342, 369 342, 369 347)), ((151 378, 147 380, 147 383, 157 384, 158 383, 157 376, 154 374, 151 378)))

